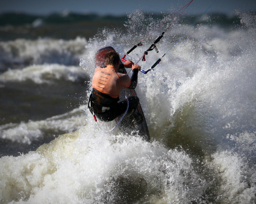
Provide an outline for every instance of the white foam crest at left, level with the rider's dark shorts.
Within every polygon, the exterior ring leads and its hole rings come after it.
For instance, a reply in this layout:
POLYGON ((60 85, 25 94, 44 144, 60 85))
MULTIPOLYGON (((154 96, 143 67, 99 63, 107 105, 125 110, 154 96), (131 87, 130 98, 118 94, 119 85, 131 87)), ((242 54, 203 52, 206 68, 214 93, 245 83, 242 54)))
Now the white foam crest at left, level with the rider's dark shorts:
POLYGON ((45 120, 1 125, 0 138, 12 142, 31 144, 31 142, 42 139, 42 137, 56 137, 65 132, 75 131, 86 124, 85 107, 80 106, 68 113, 45 120))

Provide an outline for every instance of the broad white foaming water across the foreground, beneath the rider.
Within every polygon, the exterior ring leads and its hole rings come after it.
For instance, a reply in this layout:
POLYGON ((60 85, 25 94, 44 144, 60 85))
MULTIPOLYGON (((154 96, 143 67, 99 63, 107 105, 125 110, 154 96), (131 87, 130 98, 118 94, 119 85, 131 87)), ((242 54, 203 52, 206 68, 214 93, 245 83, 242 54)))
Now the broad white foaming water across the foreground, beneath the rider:
MULTIPOLYGON (((247 165, 237 155, 220 151, 204 162, 208 166, 203 167, 204 174, 214 176, 213 181, 198 174, 195 165, 199 163, 183 151, 168 150, 158 142, 147 143, 128 135, 104 134, 88 123, 42 145, 36 152, 2 157, 1 200, 191 203, 203 202, 201 195, 212 187, 218 192, 219 202, 253 203, 256 188, 248 186, 247 165)), ((253 175, 250 180, 255 182, 253 175)))

